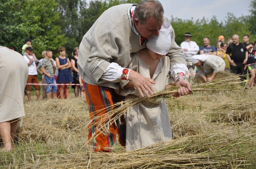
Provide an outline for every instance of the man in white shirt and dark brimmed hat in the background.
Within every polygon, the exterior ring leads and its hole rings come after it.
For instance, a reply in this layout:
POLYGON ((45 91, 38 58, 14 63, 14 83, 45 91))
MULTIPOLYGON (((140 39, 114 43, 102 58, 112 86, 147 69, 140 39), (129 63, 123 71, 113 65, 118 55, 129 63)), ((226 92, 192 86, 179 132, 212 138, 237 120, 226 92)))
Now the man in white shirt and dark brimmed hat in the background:
POLYGON ((196 67, 192 64, 192 56, 196 55, 199 52, 199 46, 196 42, 191 41, 192 35, 187 32, 185 33, 185 41, 181 43, 181 48, 183 50, 184 55, 186 56, 186 62, 188 67, 188 74, 186 76, 186 80, 189 82, 193 82, 196 77, 196 67))

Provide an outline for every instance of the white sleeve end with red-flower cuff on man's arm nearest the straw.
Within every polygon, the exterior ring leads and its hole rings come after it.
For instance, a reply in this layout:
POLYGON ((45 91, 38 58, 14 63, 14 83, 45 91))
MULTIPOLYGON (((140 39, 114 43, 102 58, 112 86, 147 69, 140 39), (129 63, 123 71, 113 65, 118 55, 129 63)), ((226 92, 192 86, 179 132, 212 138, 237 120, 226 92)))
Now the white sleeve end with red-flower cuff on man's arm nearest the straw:
POLYGON ((117 63, 110 63, 106 71, 100 77, 102 80, 110 82, 120 82, 128 80, 130 69, 122 68, 117 63))

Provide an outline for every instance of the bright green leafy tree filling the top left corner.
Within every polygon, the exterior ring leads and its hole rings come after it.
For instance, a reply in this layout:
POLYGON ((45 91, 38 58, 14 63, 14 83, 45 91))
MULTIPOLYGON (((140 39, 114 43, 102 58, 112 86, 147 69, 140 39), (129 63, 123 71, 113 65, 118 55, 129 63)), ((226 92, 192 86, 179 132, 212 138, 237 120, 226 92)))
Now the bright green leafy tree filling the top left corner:
POLYGON ((56 8, 55 0, 0 0, 0 44, 22 53, 24 40, 31 38, 38 58, 43 50, 65 44, 56 8))

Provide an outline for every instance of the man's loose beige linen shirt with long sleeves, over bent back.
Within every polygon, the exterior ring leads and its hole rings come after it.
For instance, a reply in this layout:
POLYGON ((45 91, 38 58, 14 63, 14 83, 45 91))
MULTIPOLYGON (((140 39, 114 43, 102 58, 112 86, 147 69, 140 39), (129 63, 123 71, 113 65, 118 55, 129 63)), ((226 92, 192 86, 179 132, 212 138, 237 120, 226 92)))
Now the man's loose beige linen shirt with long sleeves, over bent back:
MULTIPOLYGON (((111 63, 127 68, 132 53, 146 48, 146 41, 141 44, 141 35, 137 35, 132 26, 130 14, 132 5, 137 4, 120 4, 109 8, 83 37, 77 65, 86 83, 113 89, 120 88, 119 83, 116 82, 121 81, 121 78, 113 82, 103 80, 102 75, 111 63)), ((164 18, 164 22, 166 21, 169 20, 164 18)), ((186 64, 182 49, 175 42, 173 29, 171 41, 171 48, 167 54, 170 58, 170 66, 176 63, 186 64)))

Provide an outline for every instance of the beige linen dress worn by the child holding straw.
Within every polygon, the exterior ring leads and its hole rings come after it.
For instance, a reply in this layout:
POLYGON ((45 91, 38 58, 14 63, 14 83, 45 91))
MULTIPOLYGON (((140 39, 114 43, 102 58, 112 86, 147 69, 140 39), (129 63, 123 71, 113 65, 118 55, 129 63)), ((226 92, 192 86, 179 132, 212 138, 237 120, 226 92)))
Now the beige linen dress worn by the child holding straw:
MULTIPOLYGON (((149 66, 139 57, 138 52, 132 57, 129 68, 150 78, 149 66)), ((164 90, 170 82, 170 58, 159 60, 152 79, 155 92, 164 90)), ((122 86, 122 83, 121 87, 122 86)), ((140 97, 135 88, 120 91, 126 99, 140 97)), ((142 102, 130 108, 126 113, 126 150, 134 150, 172 139, 170 118, 166 102, 158 98, 153 102, 142 102)))

